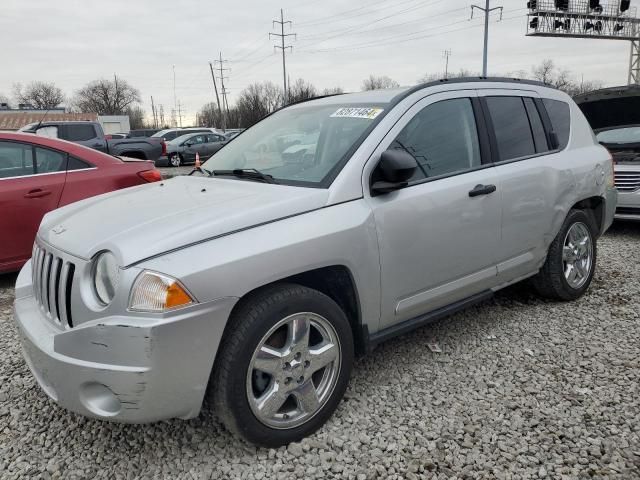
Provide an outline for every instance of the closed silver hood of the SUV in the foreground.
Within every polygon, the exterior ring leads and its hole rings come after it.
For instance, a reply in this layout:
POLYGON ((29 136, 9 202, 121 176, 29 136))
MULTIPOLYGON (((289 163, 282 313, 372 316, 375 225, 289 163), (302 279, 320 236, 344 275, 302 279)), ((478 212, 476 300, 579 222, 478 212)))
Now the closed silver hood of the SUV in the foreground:
POLYGON ((326 205, 328 191, 244 180, 174 177, 48 213, 38 236, 90 259, 110 250, 122 266, 326 205))

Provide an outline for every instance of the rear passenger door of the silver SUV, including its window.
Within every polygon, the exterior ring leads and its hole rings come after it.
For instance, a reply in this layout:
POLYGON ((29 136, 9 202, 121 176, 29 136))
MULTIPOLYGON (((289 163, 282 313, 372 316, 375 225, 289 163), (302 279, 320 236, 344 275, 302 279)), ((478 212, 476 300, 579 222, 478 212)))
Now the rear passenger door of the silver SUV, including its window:
POLYGON ((575 182, 559 150, 551 150, 546 114, 536 92, 480 94, 502 198, 498 274, 508 282, 539 268, 553 240, 559 196, 570 192, 575 182))

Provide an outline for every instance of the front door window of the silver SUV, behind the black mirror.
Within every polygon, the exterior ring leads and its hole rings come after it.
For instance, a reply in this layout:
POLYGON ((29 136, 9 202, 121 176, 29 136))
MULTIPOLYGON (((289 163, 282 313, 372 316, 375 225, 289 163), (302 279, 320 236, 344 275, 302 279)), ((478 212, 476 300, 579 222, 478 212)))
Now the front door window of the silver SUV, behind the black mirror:
POLYGON ((471 100, 443 100, 422 109, 389 146, 416 159, 411 181, 463 172, 481 163, 471 100))

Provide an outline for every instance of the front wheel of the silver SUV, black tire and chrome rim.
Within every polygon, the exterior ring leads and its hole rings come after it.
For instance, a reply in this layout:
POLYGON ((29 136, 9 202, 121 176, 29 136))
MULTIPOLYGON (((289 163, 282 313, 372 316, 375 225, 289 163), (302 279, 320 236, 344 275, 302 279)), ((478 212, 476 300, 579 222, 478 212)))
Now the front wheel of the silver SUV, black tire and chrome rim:
POLYGON ((320 428, 340 403, 353 365, 342 309, 316 290, 281 284, 249 298, 229 322, 208 391, 225 426, 265 447, 320 428))

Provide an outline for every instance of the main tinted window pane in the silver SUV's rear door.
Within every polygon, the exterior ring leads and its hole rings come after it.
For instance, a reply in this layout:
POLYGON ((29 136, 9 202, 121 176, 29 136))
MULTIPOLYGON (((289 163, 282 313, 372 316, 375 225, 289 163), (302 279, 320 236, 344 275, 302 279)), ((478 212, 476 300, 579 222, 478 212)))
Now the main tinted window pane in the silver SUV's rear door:
POLYGON ((534 155, 529 117, 521 97, 487 97, 500 161, 534 155))

